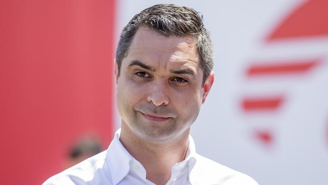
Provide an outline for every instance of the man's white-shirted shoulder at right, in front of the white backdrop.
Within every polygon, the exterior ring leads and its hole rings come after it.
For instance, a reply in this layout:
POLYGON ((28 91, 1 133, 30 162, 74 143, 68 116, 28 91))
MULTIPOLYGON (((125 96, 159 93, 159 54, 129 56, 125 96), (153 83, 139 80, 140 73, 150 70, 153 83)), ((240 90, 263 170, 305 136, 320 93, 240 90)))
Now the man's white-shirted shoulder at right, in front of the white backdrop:
POLYGON ((193 176, 196 176, 195 181, 223 185, 258 185, 252 177, 204 156, 197 154, 196 161, 193 168, 193 176))

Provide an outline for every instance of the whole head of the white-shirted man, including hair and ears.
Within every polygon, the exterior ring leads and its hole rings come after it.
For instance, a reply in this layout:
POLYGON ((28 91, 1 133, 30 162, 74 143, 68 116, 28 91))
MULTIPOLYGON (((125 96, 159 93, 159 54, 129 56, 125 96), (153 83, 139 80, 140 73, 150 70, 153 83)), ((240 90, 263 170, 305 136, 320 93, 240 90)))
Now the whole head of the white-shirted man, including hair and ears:
POLYGON ((188 137, 214 79, 198 14, 176 5, 142 11, 124 28, 116 62, 122 135, 148 142, 188 137))

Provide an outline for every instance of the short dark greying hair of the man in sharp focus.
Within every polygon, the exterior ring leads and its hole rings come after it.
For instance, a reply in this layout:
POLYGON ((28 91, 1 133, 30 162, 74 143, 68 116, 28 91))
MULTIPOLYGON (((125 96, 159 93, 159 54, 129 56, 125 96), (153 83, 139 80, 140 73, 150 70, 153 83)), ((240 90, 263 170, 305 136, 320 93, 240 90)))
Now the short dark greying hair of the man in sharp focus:
POLYGON ((119 74, 122 60, 126 57, 131 41, 140 28, 148 28, 164 36, 193 36, 200 66, 203 69, 203 83, 213 69, 213 47, 208 31, 202 22, 202 15, 194 9, 172 5, 158 4, 135 15, 123 28, 116 51, 116 63, 119 74))

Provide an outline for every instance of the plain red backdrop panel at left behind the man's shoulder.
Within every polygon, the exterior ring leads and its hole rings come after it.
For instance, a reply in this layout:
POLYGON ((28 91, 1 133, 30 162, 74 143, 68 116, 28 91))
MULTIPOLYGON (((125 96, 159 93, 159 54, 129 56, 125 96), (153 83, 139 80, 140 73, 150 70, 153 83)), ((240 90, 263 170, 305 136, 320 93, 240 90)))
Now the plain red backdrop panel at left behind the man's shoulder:
POLYGON ((113 135, 115 1, 0 2, 1 184, 40 184, 113 135))

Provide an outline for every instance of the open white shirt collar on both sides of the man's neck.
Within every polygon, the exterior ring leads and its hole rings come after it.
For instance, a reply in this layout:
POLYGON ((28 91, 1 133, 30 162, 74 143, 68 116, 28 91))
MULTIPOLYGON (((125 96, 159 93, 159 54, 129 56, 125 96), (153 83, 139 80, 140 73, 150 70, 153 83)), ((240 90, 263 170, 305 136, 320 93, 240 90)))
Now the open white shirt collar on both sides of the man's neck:
MULTIPOLYGON (((113 141, 107 149, 107 164, 110 167, 110 172, 113 184, 118 184, 130 171, 131 162, 136 162, 133 156, 124 148, 120 142, 121 128, 115 132, 113 141)), ((189 135, 189 146, 185 160, 179 163, 185 163, 188 167, 188 178, 190 181, 190 173, 196 163, 195 143, 191 135, 189 135)), ((177 163, 178 164, 178 163, 177 163)))

